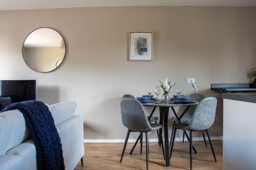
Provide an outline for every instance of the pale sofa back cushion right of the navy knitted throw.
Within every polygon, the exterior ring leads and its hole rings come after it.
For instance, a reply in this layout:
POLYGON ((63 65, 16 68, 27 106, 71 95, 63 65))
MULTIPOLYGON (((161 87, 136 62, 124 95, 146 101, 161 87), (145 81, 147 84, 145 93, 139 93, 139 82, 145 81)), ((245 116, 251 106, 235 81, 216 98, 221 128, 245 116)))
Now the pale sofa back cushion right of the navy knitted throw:
POLYGON ((69 119, 75 114, 76 111, 76 102, 62 102, 47 106, 52 113, 55 125, 69 119))

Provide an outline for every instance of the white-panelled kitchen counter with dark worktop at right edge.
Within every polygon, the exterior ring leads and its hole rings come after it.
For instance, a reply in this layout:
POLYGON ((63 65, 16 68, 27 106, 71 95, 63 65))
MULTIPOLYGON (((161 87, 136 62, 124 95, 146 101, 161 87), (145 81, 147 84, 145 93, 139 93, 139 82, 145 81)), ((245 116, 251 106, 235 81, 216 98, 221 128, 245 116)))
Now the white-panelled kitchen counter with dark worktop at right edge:
POLYGON ((222 93, 223 169, 256 167, 256 93, 222 93))

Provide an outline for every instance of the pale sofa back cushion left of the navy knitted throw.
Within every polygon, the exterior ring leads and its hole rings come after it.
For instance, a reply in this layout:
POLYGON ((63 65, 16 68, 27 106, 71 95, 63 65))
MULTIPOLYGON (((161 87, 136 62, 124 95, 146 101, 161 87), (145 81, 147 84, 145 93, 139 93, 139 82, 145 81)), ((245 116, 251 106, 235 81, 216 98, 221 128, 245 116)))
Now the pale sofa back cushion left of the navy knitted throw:
MULTIPOLYGON (((29 130, 25 124, 25 119, 20 111, 11 110, 3 112, 0 114, 0 118, 5 119, 9 124, 9 128, 4 128, 4 130, 10 135, 9 140, 4 139, 8 142, 7 151, 30 138, 29 130)), ((3 126, 2 123, 0 123, 0 126, 3 126)), ((0 144, 2 144, 2 142, 0 144)))

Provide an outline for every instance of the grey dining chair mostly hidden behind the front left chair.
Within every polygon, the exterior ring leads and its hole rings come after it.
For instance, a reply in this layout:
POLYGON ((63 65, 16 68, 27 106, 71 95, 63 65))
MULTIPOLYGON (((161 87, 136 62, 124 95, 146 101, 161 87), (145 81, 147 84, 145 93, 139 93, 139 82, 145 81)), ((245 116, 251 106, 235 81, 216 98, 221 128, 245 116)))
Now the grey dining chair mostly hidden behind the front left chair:
MULTIPOLYGON (((132 99, 136 99, 134 95, 132 94, 124 94, 123 95, 123 98, 132 98, 132 99)), ((147 116, 147 119, 149 119, 150 116, 147 116)), ((157 120, 158 120, 158 117, 157 116, 151 116, 150 118, 150 123, 155 123, 157 124, 157 120)), ((161 147, 161 143, 160 143, 160 136, 159 136, 159 130, 157 130, 157 137, 158 137, 158 144, 159 146, 161 147)), ((135 149, 136 145, 137 145, 137 142, 138 140, 140 140, 140 155, 142 155, 142 143, 143 143, 143 133, 140 134, 140 137, 136 140, 135 144, 134 144, 134 147, 133 149, 131 150, 130 152, 130 155, 132 155, 133 153, 133 150, 135 149)))

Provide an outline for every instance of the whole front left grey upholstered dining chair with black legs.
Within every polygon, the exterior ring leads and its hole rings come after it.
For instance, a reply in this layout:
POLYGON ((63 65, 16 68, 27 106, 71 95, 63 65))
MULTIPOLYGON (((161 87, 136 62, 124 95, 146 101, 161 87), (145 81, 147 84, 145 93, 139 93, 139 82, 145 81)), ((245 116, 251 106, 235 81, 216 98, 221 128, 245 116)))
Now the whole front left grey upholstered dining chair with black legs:
MULTIPOLYGON (((122 156, 120 162, 122 162, 127 141, 129 139, 130 132, 145 133, 146 136, 146 169, 148 169, 148 132, 162 129, 161 124, 152 124, 148 121, 145 110, 141 103, 133 98, 123 98, 121 103, 121 119, 122 124, 128 129, 124 141, 122 156)), ((162 136, 160 134, 160 140, 162 136)), ((163 143, 161 141, 161 143, 163 143)), ((163 146, 162 146, 163 147, 163 146)))

